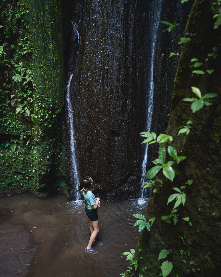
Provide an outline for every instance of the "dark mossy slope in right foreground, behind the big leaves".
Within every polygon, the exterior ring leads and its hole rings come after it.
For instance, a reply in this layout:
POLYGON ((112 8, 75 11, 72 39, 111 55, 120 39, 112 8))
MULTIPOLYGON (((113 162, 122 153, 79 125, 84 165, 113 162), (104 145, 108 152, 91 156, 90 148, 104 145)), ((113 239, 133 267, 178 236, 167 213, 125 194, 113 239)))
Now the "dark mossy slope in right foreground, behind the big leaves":
MULTIPOLYGON (((186 159, 179 163, 180 174, 173 183, 163 174, 158 174, 163 184, 155 186, 158 192, 152 190, 145 212, 147 219, 156 219, 150 232, 145 228, 141 233, 136 249, 137 270, 131 274, 127 272, 126 276, 159 276, 162 274, 160 266, 166 260, 172 263, 169 276, 206 277, 220 274, 221 26, 214 29, 216 19, 213 19, 214 13, 220 13, 217 3, 220 1, 211 4, 208 0, 196 0, 189 17, 185 37, 190 40, 182 44, 167 131, 174 138, 172 146, 178 155, 182 151, 181 155, 185 155, 186 159), (195 65, 195 62, 202 64, 195 65), (194 70, 201 72, 194 73, 194 70), (206 93, 218 94, 213 98, 212 106, 204 105, 192 113, 191 102, 182 101, 185 97, 196 97, 191 86, 199 88, 202 96, 206 93), (190 133, 177 136, 178 130, 188 120, 192 121, 190 133), (188 185, 188 180, 193 183, 188 185), (161 219, 171 214, 175 201, 168 205, 167 201, 176 192, 173 187, 186 194, 185 205, 176 208, 176 225, 174 217, 170 218, 171 223, 161 219), (183 219, 188 220, 187 217, 191 223, 183 219), (158 260, 163 249, 168 250, 168 255, 158 260)), ((169 159, 168 155, 166 161, 169 159)))

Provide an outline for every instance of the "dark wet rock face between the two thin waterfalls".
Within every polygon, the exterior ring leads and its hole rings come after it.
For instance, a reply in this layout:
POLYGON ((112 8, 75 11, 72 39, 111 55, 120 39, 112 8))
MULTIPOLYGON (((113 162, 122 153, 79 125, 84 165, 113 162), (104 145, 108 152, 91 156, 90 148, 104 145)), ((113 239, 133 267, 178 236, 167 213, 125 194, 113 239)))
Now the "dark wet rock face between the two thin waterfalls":
MULTIPOLYGON (((73 72, 79 178, 89 174, 108 199, 136 197, 140 187, 147 70, 147 7, 141 2, 68 4, 67 21, 73 19, 79 32, 78 41, 67 23, 66 73, 73 72)), ((69 179, 68 127, 64 130, 69 179)))

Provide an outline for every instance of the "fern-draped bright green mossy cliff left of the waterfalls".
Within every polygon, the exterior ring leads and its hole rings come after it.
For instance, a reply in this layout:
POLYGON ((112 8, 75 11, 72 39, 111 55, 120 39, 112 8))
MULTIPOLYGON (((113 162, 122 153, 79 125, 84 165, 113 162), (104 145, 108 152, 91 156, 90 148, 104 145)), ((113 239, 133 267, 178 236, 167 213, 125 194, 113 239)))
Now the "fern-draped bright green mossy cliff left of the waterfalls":
POLYGON ((63 1, 0 5, 0 190, 67 189, 61 159, 63 1))

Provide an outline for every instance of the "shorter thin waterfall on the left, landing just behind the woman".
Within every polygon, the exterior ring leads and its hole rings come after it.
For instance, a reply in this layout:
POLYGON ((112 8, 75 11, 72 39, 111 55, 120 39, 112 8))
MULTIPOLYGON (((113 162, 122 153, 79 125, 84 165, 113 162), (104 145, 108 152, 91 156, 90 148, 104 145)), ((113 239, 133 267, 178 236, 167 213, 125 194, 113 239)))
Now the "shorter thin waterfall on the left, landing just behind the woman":
POLYGON ((72 79, 73 73, 69 75, 68 84, 66 86, 66 102, 67 102, 67 119, 68 125, 70 130, 70 162, 71 162, 71 198, 75 200, 80 200, 80 182, 78 178, 77 172, 77 162, 76 162, 76 155, 75 155, 75 132, 74 132, 74 120, 73 120, 73 108, 71 105, 70 100, 70 84, 72 79))

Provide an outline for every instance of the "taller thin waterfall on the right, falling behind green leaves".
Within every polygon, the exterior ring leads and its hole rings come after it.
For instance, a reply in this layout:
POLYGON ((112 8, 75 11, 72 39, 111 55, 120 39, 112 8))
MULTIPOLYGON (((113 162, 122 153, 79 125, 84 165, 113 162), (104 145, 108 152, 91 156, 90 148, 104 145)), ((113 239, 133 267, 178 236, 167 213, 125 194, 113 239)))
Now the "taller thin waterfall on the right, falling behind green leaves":
MULTIPOLYGON (((149 76, 149 90, 148 90, 148 112, 147 112, 147 122, 146 122, 146 132, 150 132, 151 122, 152 122, 152 115, 153 115, 153 96, 154 96, 154 58, 155 58, 155 46, 157 41, 158 35, 158 26, 160 20, 160 13, 162 7, 162 0, 156 2, 153 7, 152 11, 152 28, 150 29, 150 76, 149 76)), ((146 163, 147 163, 147 154, 148 154, 148 143, 146 143, 144 159, 142 163, 142 178, 141 178, 141 192, 140 192, 140 203, 145 203, 145 196, 144 196, 144 179, 146 175, 146 163)))

